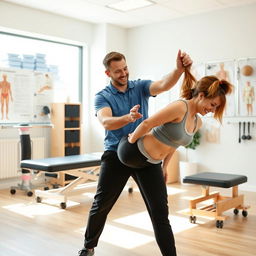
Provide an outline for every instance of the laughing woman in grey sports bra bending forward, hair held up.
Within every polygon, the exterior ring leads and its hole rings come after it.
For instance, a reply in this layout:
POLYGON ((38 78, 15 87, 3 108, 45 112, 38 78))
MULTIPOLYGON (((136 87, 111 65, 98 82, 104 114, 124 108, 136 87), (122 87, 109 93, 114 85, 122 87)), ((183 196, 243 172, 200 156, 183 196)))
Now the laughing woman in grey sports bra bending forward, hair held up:
POLYGON ((120 161, 133 168, 144 168, 163 160, 166 174, 172 154, 179 146, 189 145, 202 126, 198 114, 204 116, 212 112, 215 119, 222 121, 226 95, 232 92, 232 87, 228 81, 215 76, 196 81, 186 70, 182 99, 168 104, 122 138, 117 150, 120 161))

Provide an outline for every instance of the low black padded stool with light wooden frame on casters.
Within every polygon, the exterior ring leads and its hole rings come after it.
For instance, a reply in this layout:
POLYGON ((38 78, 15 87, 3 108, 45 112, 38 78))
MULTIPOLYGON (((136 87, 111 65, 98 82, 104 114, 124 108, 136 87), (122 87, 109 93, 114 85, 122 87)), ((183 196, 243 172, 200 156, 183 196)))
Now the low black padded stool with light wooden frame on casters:
POLYGON ((248 215, 249 206, 244 206, 244 195, 238 195, 238 185, 247 182, 244 175, 234 175, 228 173, 202 172, 183 179, 184 183, 198 184, 202 186, 202 195, 190 200, 190 222, 196 223, 196 216, 214 217, 216 227, 222 228, 223 221, 227 216, 222 213, 234 208, 234 214, 238 214, 242 209, 242 215, 248 215), (219 192, 210 193, 210 186, 221 188, 232 188, 232 197, 221 196, 219 192), (213 204, 197 208, 197 204, 213 199, 213 204))

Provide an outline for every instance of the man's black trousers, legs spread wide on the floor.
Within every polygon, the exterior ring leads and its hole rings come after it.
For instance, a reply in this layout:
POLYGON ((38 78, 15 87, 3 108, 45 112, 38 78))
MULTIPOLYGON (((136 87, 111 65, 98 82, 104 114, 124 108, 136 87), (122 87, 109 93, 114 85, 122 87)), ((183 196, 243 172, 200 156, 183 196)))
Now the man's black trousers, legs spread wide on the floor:
POLYGON ((150 164, 141 169, 130 168, 120 162, 114 151, 105 151, 101 160, 97 192, 85 232, 85 248, 97 246, 107 215, 129 177, 132 176, 146 204, 162 255, 176 256, 174 236, 168 219, 167 191, 161 164, 150 164))

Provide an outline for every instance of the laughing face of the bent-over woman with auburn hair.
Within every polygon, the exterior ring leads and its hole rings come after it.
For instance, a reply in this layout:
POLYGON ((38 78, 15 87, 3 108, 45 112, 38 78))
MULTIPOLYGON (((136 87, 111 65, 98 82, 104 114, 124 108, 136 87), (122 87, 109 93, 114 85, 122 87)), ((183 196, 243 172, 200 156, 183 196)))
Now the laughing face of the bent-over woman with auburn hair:
POLYGON ((215 98, 206 98, 204 95, 199 95, 199 101, 198 101, 198 113, 202 116, 212 112, 214 113, 216 109, 220 106, 221 99, 220 96, 217 96, 215 98))

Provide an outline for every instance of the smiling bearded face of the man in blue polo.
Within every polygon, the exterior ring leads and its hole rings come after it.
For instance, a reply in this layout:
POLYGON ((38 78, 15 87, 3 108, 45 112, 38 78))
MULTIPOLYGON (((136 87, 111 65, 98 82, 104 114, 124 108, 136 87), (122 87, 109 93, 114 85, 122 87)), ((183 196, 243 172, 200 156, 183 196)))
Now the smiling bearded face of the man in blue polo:
POLYGON ((127 82, 129 79, 129 70, 124 59, 120 61, 112 61, 105 73, 108 77, 111 78, 112 84, 114 86, 127 86, 127 82))

